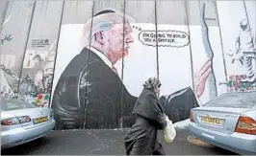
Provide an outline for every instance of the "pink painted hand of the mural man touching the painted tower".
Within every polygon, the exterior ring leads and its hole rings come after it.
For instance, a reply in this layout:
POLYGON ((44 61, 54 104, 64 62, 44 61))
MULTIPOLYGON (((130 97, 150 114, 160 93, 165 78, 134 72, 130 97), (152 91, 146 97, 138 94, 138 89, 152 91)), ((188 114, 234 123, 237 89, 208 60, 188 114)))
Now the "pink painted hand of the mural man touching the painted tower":
POLYGON ((211 59, 208 59, 203 67, 195 73, 194 79, 194 90, 195 94, 200 98, 205 90, 205 82, 211 73, 211 59))

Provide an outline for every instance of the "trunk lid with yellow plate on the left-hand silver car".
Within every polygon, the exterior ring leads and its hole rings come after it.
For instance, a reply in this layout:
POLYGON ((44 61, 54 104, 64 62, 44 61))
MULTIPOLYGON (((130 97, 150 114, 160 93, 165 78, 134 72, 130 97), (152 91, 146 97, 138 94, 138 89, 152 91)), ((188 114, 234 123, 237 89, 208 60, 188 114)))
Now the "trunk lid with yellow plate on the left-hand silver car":
POLYGON ((15 117, 29 116, 31 121, 29 123, 21 123, 21 125, 26 128, 33 128, 45 123, 49 123, 51 110, 48 108, 27 108, 8 111, 15 117))

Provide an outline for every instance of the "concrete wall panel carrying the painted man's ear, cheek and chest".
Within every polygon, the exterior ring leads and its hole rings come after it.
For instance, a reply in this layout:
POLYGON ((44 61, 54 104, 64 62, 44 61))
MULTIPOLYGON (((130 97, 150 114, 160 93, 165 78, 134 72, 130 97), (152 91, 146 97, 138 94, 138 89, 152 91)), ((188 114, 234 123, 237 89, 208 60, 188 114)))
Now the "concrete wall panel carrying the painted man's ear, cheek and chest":
MULTIPOLYGON (((114 82, 121 81, 122 66, 120 64, 118 67, 118 71, 120 72, 118 73, 115 71, 117 67, 114 64, 116 61, 121 60, 121 56, 118 59, 115 58, 123 54, 123 19, 119 16, 114 16, 112 18, 115 22, 110 23, 111 20, 109 17, 106 17, 106 14, 102 13, 102 11, 109 10, 116 11, 119 15, 123 15, 124 1, 94 1, 93 18, 91 21, 92 27, 91 30, 86 30, 88 31, 87 33, 90 34, 91 39, 89 42, 90 52, 84 53, 89 55, 86 60, 89 68, 85 71, 88 75, 85 74, 84 77, 91 85, 87 86, 86 90, 88 92, 85 95, 85 128, 114 128, 121 126, 122 87, 121 85, 117 85, 117 83, 114 84, 114 82), (103 33, 99 31, 102 30, 103 27, 105 27, 105 30, 113 28, 113 32, 103 33), (110 40, 110 38, 112 39, 110 40), (109 44, 113 45, 114 49, 112 49, 112 52, 117 56, 108 57, 109 63, 105 62, 107 65, 103 65, 102 63, 105 59, 102 56, 99 58, 95 56, 95 52, 102 52, 105 56, 111 55, 111 51, 104 48, 109 44), (113 72, 116 72, 116 74, 113 72), (95 79, 97 79, 96 83, 94 83, 95 79), (106 79, 110 81, 105 81, 106 79), (104 83, 104 86, 98 83, 104 83), (99 106, 101 109, 98 109, 99 106)), ((83 97, 81 97, 80 100, 83 100, 83 97)))

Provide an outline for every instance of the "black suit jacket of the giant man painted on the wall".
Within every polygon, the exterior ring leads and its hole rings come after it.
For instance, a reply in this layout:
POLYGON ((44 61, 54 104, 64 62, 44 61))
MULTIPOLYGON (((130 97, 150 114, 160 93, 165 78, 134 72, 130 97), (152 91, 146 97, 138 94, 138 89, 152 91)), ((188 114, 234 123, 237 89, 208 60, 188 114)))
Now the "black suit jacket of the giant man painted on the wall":
MULTIPOLYGON (((136 100, 105 62, 84 48, 69 62, 55 88, 56 128, 130 127, 135 123, 132 110, 136 100)), ((161 101, 173 123, 188 119, 190 108, 198 106, 191 88, 161 101)))

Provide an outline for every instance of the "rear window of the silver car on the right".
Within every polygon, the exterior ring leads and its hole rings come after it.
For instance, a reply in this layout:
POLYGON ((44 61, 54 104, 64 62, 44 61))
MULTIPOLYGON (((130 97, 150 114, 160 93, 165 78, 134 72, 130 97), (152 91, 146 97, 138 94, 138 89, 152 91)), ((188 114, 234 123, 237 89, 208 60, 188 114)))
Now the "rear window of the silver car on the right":
POLYGON ((252 108, 256 106, 256 92, 232 93, 219 96, 204 106, 252 108))

